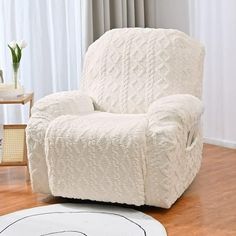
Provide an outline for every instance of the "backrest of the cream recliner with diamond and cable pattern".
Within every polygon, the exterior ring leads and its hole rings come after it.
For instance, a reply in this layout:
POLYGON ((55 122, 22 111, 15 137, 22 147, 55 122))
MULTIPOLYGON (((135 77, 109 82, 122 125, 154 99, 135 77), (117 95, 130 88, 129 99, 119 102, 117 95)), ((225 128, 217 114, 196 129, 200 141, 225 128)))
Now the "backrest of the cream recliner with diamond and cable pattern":
POLYGON ((96 110, 145 113, 163 96, 201 97, 204 48, 172 29, 122 28, 88 49, 81 90, 96 110))

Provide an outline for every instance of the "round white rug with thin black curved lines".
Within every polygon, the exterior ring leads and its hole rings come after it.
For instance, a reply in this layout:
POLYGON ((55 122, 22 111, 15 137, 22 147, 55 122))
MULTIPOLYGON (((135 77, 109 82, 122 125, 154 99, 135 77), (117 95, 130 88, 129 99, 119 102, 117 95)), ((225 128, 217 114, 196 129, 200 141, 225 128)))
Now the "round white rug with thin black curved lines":
POLYGON ((55 204, 0 217, 0 236, 167 236, 157 220, 132 209, 55 204))

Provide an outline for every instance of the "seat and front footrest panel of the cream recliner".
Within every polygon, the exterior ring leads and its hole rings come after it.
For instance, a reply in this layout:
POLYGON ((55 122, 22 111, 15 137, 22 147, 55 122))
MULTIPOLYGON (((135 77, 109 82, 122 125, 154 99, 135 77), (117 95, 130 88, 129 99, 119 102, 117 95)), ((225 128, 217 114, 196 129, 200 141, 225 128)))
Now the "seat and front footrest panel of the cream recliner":
POLYGON ((94 112, 52 121, 45 138, 52 194, 143 205, 146 127, 143 114, 94 112))

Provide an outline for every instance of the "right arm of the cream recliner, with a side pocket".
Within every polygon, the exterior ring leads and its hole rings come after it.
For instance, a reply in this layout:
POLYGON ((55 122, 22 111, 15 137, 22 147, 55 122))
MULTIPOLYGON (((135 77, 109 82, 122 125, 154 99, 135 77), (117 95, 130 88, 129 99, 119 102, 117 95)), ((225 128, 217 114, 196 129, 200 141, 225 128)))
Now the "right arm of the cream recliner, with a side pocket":
POLYGON ((148 110, 146 203, 170 207, 196 176, 202 158, 202 103, 171 95, 148 110), (153 191, 155 189, 156 191, 153 191))

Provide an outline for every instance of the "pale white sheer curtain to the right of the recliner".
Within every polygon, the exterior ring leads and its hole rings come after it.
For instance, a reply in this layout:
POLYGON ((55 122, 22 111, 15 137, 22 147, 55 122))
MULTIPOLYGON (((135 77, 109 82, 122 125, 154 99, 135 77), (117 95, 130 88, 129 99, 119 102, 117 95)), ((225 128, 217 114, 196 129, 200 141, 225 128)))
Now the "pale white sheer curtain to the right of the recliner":
POLYGON ((191 0, 190 33, 206 48, 204 136, 236 147, 236 1, 191 0))

